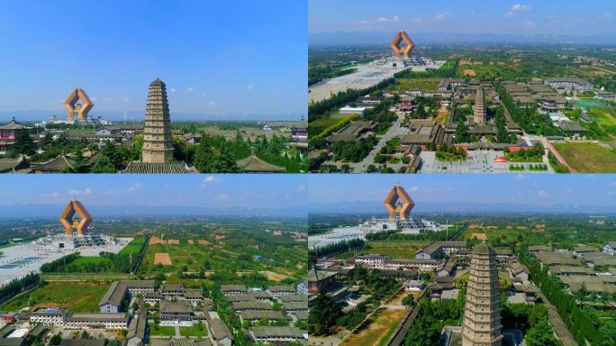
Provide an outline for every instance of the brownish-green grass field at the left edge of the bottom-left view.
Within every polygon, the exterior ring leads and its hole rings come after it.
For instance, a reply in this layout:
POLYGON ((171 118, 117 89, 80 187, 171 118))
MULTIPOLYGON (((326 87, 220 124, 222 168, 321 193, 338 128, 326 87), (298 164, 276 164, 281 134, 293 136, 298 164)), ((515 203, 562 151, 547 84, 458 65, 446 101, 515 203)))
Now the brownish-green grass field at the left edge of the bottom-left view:
POLYGON ((78 282, 49 282, 44 287, 38 287, 32 292, 23 293, 15 296, 3 305, 2 311, 16 311, 30 305, 40 303, 57 303, 66 305, 74 313, 97 312, 98 302, 103 298, 104 293, 109 289, 107 284, 90 284, 78 282))

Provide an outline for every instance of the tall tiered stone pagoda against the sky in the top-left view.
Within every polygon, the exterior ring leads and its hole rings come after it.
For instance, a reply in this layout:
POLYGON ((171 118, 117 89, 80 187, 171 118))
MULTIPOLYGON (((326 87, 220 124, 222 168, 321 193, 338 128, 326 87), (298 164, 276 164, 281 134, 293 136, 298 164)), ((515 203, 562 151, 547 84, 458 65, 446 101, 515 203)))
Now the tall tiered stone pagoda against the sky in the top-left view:
POLYGON ((159 78, 149 84, 143 128, 144 163, 168 163, 173 159, 167 87, 159 78))

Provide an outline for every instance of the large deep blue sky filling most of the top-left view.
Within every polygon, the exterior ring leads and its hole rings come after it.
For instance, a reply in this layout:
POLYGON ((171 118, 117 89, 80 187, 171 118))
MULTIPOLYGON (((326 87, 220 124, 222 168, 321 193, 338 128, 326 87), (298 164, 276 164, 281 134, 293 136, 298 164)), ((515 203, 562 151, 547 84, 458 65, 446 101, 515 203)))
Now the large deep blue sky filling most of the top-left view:
POLYGON ((160 77, 172 117, 299 117, 307 106, 306 7, 286 0, 4 0, 0 112, 63 115, 64 99, 83 87, 93 115, 143 113, 149 82, 160 77))

